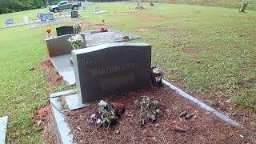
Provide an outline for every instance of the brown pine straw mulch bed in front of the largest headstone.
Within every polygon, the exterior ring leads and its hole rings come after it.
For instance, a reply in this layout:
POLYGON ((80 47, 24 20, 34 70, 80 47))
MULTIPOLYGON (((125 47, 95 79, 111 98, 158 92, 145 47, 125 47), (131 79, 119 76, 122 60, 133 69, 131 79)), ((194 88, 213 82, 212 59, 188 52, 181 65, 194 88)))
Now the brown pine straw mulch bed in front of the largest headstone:
POLYGON ((256 143, 255 131, 230 126, 216 116, 188 102, 169 88, 152 87, 133 91, 129 94, 106 99, 108 102, 123 102, 126 113, 115 126, 90 126, 88 119, 94 113, 98 102, 81 110, 69 111, 66 122, 69 123, 74 141, 79 143, 256 143), (139 109, 134 102, 142 96, 149 96, 160 102, 165 114, 157 122, 139 124, 139 109), (178 114, 187 110, 195 113, 194 118, 185 120, 178 114), (186 132, 177 132, 182 128, 186 132))

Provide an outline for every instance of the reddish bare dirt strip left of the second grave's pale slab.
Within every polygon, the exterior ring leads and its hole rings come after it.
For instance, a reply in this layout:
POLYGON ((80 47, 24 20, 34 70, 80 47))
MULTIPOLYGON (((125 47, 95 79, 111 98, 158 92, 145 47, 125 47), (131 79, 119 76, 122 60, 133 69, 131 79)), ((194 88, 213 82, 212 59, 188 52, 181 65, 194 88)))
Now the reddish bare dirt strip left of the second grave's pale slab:
POLYGON ((45 71, 50 90, 58 88, 58 86, 64 83, 62 76, 58 74, 58 71, 54 69, 54 65, 50 62, 50 58, 40 62, 40 66, 42 66, 42 69, 45 71))

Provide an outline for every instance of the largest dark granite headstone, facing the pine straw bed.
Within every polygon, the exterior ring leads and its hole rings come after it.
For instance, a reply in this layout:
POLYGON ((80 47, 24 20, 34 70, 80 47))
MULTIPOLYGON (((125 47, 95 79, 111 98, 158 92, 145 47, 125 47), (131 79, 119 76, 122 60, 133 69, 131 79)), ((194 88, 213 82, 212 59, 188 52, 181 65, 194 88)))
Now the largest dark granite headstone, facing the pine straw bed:
POLYGON ((78 101, 150 86, 151 46, 114 42, 72 50, 78 101))

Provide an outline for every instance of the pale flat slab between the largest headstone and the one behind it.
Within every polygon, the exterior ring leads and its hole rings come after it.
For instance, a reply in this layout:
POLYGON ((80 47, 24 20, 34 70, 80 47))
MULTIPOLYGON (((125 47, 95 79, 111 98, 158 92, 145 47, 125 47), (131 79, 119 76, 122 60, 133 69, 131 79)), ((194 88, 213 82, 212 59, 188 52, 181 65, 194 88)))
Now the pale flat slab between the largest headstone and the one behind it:
POLYGON ((74 85, 74 68, 70 63, 71 54, 64 54, 57 57, 51 57, 50 61, 53 63, 58 73, 63 77, 68 85, 74 85))

